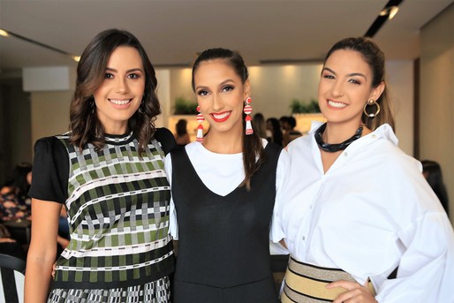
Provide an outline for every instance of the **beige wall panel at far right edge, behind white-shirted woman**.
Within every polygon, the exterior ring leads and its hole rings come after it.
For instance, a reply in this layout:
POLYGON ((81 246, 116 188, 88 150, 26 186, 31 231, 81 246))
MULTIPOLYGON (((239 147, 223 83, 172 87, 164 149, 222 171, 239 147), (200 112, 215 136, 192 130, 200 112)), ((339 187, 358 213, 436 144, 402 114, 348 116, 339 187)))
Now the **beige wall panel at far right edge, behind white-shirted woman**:
POLYGON ((454 4, 420 36, 420 157, 440 163, 454 223, 454 4))

